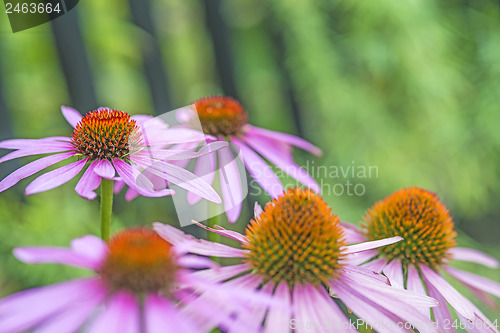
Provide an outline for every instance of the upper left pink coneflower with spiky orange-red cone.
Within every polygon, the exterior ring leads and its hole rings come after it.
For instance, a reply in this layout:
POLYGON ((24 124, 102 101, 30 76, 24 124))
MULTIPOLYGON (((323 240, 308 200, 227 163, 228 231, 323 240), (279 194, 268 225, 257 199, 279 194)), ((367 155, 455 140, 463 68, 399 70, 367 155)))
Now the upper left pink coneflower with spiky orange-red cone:
POLYGON ((0 148, 15 151, 0 158, 0 163, 19 157, 52 154, 15 170, 0 182, 0 192, 51 165, 72 158, 70 164, 42 174, 26 187, 34 194, 58 187, 86 168, 76 192, 89 200, 101 178, 120 179, 135 192, 148 197, 173 194, 166 188, 155 188, 144 170, 220 203, 220 197, 206 182, 179 168, 169 160, 190 159, 222 146, 204 146, 199 152, 170 151, 163 147, 179 142, 201 142, 205 137, 188 129, 169 129, 160 120, 148 116, 130 116, 125 112, 99 108, 84 117, 70 107, 62 107, 63 116, 73 126, 71 137, 15 139, 0 142, 0 148), (119 178, 115 178, 118 174, 119 178))

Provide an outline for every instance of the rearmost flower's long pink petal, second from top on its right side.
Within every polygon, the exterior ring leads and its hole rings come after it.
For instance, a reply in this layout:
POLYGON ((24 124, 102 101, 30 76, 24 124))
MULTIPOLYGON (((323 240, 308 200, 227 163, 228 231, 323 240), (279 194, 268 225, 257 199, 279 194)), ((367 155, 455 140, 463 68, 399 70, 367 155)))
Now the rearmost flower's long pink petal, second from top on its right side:
POLYGON ((246 135, 243 140, 271 163, 290 175, 290 177, 298 180, 315 192, 321 191, 318 183, 311 175, 293 161, 291 152, 288 149, 280 147, 276 140, 262 139, 250 135, 246 135))

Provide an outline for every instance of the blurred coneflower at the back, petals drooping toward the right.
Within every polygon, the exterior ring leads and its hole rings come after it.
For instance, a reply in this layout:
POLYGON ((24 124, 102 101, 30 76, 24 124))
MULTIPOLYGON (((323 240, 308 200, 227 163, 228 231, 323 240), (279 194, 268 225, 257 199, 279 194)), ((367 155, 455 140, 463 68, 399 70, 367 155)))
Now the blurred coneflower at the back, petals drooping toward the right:
MULTIPOLYGON (((263 158, 310 189, 320 191, 316 181, 294 162, 292 147, 299 147, 316 156, 321 155, 321 150, 294 135, 248 124, 247 113, 238 101, 223 96, 201 98, 180 109, 177 118, 185 127, 199 129, 201 126, 205 134, 219 141, 228 141, 253 179, 272 198, 283 192, 283 185, 263 158)), ((230 147, 199 158, 194 173, 212 184, 217 161, 226 215, 230 222, 235 222, 240 216, 243 191, 240 171, 230 147)), ((190 204, 195 204, 200 197, 196 193, 188 193, 187 199, 190 204)))

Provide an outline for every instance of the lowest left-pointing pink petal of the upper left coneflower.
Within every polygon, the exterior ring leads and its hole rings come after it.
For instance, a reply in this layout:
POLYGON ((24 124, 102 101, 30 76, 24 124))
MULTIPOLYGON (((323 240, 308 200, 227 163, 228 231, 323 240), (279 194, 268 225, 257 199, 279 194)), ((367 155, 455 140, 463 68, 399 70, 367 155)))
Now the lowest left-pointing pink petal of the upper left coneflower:
POLYGON ((26 186, 26 195, 48 191, 67 183, 83 169, 86 162, 87 159, 73 162, 39 176, 26 186))

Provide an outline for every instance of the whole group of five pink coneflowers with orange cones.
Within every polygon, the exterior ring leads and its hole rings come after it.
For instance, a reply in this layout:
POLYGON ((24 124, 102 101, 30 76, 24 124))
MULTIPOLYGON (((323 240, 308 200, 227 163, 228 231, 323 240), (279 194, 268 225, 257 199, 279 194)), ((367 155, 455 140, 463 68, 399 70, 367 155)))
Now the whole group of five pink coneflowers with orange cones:
POLYGON ((94 274, 0 300, 0 333, 332 331, 321 323, 356 332, 353 320, 379 332, 453 332, 449 306, 471 332, 498 332, 496 322, 441 275, 449 273, 494 306, 488 294, 500 297, 500 284, 449 263, 497 267, 498 262, 456 247, 452 218, 435 194, 397 191, 371 207, 358 228, 340 222, 316 182, 293 161, 293 146, 320 155, 315 146, 249 125, 231 98, 204 98, 181 111, 182 125, 169 127, 107 108, 82 117, 63 107, 74 128, 71 137, 0 142, 0 148, 13 150, 0 162, 51 154, 12 172, 0 191, 72 159, 33 180, 26 194, 53 189, 85 169, 75 191, 92 200, 101 186, 104 210, 102 239, 87 235, 69 248, 14 249, 26 263, 59 263, 94 274), (194 119, 201 130, 192 126, 194 119), (273 200, 263 208, 256 203, 244 234, 194 223, 239 246, 196 239, 158 222, 109 236, 113 185, 115 192, 127 186, 130 200, 172 195, 168 186, 176 184, 189 192, 190 203, 200 198, 223 203, 235 222, 243 199, 239 170, 231 162, 235 149, 273 200), (263 158, 305 187, 284 189, 263 158), (196 159, 193 173, 185 168, 191 159, 196 159), (229 177, 219 184, 222 198, 211 186, 217 165, 224 165, 229 177), (233 258, 233 264, 221 266, 217 258, 233 258))

